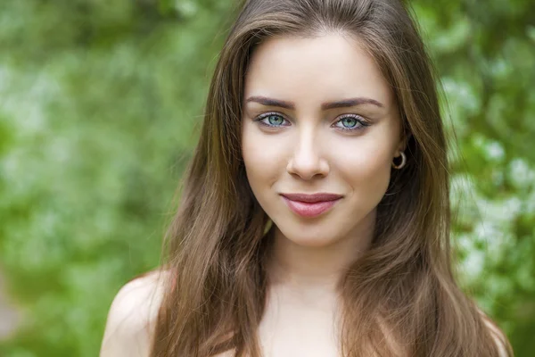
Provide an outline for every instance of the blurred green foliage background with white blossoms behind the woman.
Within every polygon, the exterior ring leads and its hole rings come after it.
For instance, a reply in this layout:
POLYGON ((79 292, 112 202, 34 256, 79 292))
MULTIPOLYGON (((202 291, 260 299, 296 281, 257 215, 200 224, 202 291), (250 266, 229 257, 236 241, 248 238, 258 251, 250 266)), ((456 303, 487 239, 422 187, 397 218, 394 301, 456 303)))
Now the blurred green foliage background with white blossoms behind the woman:
MULTIPOLYGON (((534 356, 535 2, 411 4, 457 133, 460 281, 534 356)), ((97 355, 158 265, 233 7, 0 1, 0 356, 97 355)))

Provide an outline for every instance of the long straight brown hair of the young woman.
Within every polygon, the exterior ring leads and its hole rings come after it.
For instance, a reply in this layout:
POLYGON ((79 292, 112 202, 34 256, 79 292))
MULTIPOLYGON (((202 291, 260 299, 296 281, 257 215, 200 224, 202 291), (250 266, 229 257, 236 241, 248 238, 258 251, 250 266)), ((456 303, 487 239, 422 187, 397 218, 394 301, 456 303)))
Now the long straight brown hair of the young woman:
MULTIPOLYGON (((250 0, 221 50, 202 133, 169 228, 165 295, 152 357, 260 356, 272 235, 241 154, 243 78, 274 36, 354 37, 390 83, 407 137, 369 251, 341 285, 343 356, 498 356, 495 336, 455 282, 447 141, 432 65, 407 8, 394 0, 250 0), (411 134, 408 136, 408 134, 411 134)), ((512 350, 506 339, 503 345, 512 350)))

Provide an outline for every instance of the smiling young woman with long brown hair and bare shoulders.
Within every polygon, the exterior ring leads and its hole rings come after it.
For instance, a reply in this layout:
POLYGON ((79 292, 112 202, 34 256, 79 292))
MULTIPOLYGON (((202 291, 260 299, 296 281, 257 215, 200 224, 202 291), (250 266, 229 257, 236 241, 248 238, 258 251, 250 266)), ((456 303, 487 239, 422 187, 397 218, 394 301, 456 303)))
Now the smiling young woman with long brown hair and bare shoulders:
POLYGON ((250 0, 213 76, 166 265, 102 356, 507 356, 457 286, 435 79, 394 0, 250 0))

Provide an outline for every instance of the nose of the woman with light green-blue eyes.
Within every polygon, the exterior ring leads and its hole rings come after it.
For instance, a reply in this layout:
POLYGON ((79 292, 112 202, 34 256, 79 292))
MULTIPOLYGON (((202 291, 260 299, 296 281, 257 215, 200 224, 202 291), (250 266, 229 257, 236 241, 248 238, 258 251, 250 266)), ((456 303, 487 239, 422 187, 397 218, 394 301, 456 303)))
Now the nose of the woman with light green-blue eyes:
POLYGON ((321 142, 312 129, 303 130, 293 146, 293 153, 286 166, 288 173, 301 179, 313 179, 326 176, 329 164, 322 157, 321 142))

